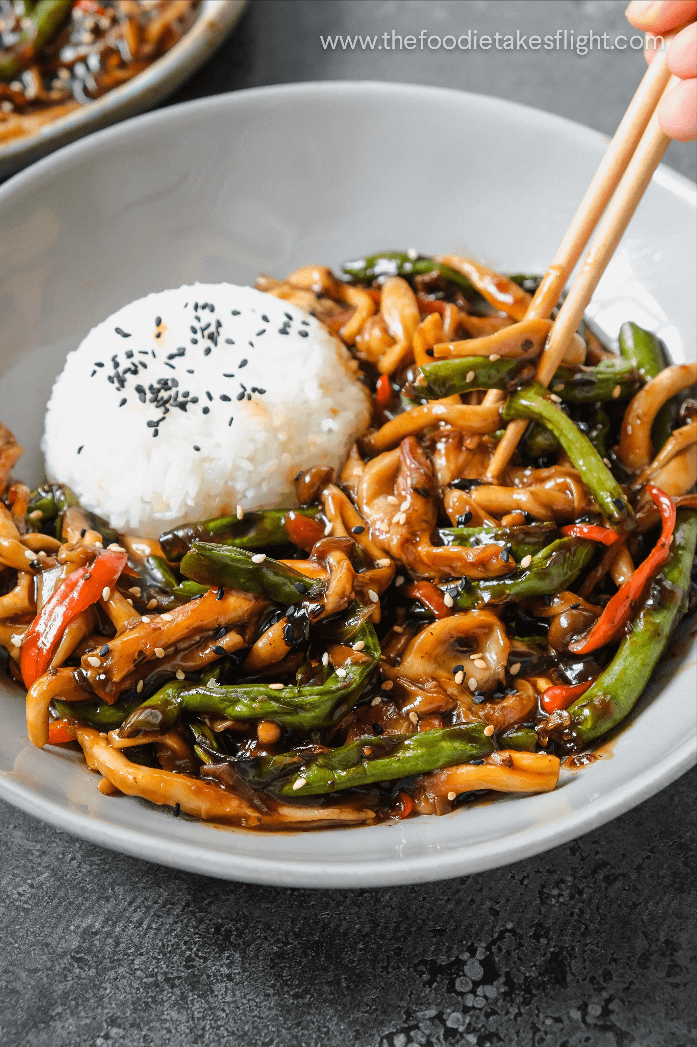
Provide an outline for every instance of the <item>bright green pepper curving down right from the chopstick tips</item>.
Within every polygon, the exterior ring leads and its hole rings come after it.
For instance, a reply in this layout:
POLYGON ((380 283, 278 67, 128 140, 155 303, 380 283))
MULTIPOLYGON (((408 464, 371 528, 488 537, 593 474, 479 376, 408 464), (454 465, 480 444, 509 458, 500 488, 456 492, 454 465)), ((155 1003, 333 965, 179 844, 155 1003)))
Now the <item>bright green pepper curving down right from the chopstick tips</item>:
POLYGON ((549 396, 547 391, 538 384, 518 389, 503 408, 504 421, 527 418, 534 422, 541 422, 554 432, 581 473, 584 484, 603 515, 613 524, 626 515, 631 515, 631 509, 622 488, 593 445, 554 400, 549 399, 549 396))

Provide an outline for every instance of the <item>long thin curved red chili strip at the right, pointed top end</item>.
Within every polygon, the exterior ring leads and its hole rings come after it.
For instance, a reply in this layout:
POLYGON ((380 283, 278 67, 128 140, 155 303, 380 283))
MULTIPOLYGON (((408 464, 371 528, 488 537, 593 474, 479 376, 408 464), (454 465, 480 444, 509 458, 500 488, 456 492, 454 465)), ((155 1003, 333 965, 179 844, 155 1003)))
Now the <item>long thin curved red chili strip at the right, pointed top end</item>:
POLYGON ((568 649, 575 654, 589 654, 599 647, 611 643, 622 632, 647 584, 658 574, 671 555, 671 542, 675 530, 675 503, 670 494, 666 494, 655 484, 647 484, 646 489, 664 521, 660 538, 644 563, 614 594, 586 639, 577 640, 576 643, 568 645, 568 649))

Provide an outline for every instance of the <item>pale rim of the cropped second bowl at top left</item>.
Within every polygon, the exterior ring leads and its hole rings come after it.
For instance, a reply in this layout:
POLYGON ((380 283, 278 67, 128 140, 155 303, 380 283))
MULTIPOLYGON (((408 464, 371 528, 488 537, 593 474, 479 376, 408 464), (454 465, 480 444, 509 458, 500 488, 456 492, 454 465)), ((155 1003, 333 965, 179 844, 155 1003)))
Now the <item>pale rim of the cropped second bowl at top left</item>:
POLYGON ((202 0, 189 31, 133 80, 45 124, 35 134, 1 142, 0 178, 46 156, 59 146, 125 116, 135 116, 166 98, 218 50, 240 20, 245 3, 246 0, 202 0))

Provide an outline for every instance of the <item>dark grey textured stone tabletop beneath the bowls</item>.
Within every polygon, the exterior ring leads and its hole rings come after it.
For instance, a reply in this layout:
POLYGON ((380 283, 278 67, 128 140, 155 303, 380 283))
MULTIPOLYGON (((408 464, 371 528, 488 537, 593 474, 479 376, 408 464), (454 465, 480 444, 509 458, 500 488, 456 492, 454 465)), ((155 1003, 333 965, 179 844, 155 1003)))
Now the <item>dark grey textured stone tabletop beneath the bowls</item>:
MULTIPOLYGON (((642 71, 636 53, 337 53, 318 37, 614 34, 623 8, 256 0, 173 101, 285 81, 401 80, 514 98, 611 133, 642 71)), ((692 146, 671 146, 668 159, 694 177, 692 146)), ((696 784, 692 772, 504 869, 357 892, 187 875, 0 804, 0 1044, 694 1047, 696 784)))

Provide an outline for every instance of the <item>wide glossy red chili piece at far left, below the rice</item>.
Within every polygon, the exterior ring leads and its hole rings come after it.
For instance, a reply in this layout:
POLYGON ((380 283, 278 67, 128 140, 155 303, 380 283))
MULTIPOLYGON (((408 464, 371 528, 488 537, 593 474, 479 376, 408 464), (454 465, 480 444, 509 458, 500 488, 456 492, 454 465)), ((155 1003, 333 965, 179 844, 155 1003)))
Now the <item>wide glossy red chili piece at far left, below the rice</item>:
POLYGON ((111 588, 126 563, 126 553, 105 552, 87 567, 78 567, 61 582, 27 629, 22 643, 22 680, 31 687, 50 665, 65 628, 81 610, 96 603, 111 588))

